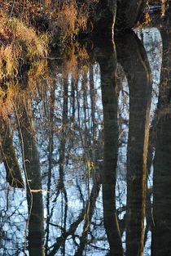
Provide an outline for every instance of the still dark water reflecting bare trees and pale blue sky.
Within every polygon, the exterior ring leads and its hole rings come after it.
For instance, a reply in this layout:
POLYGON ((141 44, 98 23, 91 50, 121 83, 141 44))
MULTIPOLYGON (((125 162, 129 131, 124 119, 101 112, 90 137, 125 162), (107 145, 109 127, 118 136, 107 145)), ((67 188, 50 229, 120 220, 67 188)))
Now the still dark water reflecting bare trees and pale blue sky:
POLYGON ((5 84, 0 255, 171 254, 167 26, 94 39, 5 84))

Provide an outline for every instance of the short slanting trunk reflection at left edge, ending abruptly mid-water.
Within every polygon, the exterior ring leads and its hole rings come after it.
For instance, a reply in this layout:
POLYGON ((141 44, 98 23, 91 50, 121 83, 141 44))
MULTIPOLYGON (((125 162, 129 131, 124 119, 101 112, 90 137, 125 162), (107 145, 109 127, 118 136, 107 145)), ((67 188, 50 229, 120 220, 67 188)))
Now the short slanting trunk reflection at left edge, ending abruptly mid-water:
POLYGON ((24 187, 24 182, 21 176, 20 165, 15 155, 13 136, 9 125, 7 121, 2 120, 0 134, 2 159, 6 168, 7 182, 9 182, 11 186, 22 188, 24 187))

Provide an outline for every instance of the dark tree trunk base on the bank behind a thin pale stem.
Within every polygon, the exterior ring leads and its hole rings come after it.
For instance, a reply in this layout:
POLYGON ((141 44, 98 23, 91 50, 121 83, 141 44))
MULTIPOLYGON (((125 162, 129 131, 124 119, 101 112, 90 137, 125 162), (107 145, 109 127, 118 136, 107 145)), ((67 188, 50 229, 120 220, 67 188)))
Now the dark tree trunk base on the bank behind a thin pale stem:
POLYGON ((142 19, 148 0, 99 0, 94 31, 113 34, 116 30, 132 29, 142 19))

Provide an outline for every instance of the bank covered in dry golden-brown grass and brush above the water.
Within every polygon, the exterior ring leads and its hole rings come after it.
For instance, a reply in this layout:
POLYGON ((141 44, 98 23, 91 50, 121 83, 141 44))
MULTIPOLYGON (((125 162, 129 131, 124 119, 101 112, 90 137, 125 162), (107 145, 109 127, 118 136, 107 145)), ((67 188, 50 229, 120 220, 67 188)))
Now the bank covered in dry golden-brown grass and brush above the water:
MULTIPOLYGON (((149 10, 160 9, 164 15, 159 3, 149 10)), ((0 80, 15 78, 22 65, 46 58, 52 48, 72 52, 78 35, 90 37, 97 4, 97 0, 0 1, 0 80)))

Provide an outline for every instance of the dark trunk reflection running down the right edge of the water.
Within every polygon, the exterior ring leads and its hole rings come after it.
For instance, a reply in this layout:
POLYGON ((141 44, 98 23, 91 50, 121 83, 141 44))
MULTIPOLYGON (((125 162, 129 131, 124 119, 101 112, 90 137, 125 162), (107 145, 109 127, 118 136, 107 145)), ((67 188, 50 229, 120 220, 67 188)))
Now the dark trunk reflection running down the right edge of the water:
MULTIPOLYGON (((169 20, 168 20, 169 21, 169 20)), ((160 30, 163 42, 163 61, 160 78, 160 94, 156 111, 156 152, 154 159, 153 218, 151 255, 171 254, 171 60, 169 30, 160 30)))

